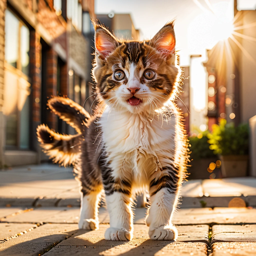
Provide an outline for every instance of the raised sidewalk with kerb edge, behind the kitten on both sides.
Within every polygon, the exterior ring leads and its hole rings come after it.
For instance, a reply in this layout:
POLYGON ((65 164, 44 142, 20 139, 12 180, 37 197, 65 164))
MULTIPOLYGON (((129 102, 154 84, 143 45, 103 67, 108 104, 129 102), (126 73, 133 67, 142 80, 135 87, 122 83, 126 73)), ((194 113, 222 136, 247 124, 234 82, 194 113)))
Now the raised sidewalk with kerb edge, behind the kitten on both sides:
MULTIPOLYGON (((254 177, 216 180, 188 178, 181 192, 182 208, 228 207, 237 204, 256 207, 254 177), (242 200, 239 201, 239 198, 242 200)), ((72 168, 41 164, 0 171, 0 207, 6 205, 79 207, 79 188, 72 168)))

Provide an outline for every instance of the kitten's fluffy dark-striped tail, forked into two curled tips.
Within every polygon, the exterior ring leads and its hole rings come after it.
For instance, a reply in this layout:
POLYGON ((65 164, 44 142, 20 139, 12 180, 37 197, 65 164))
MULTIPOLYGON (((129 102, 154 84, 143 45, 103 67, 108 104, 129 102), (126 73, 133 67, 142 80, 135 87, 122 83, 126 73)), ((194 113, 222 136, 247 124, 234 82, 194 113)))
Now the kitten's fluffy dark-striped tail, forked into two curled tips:
POLYGON ((80 145, 84 140, 83 131, 88 127, 90 115, 82 106, 64 97, 52 97, 47 105, 60 119, 76 129, 77 134, 62 135, 41 124, 37 127, 40 146, 54 163, 76 166, 81 154, 80 145))

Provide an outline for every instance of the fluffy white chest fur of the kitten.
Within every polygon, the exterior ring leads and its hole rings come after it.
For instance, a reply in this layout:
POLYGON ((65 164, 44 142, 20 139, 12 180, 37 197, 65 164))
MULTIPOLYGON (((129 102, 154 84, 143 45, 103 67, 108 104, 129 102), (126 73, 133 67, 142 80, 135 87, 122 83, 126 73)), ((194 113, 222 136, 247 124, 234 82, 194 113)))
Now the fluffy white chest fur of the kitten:
POLYGON ((147 175, 161 167, 159 156, 173 156, 175 117, 168 122, 154 116, 152 122, 146 115, 130 112, 105 111, 101 117, 102 140, 113 175, 126 172, 134 176, 147 175))

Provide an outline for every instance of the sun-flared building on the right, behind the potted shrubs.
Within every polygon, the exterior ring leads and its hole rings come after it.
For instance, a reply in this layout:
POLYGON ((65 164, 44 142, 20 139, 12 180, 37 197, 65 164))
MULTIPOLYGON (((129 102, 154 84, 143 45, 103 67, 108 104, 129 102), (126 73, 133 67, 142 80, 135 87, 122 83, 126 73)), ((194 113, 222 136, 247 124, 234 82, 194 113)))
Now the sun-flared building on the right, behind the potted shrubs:
POLYGON ((256 10, 237 10, 234 1, 234 31, 226 42, 208 50, 204 63, 209 75, 209 128, 218 118, 248 122, 256 115, 256 10))

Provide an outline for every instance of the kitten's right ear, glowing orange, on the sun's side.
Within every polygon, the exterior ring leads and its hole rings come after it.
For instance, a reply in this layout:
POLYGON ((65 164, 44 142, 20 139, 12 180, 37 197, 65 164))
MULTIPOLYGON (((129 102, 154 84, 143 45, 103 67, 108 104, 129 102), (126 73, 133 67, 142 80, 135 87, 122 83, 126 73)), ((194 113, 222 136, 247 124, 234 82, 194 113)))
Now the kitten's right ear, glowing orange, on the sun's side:
POLYGON ((175 53, 176 39, 173 26, 174 22, 167 23, 151 39, 152 45, 167 55, 175 53))

